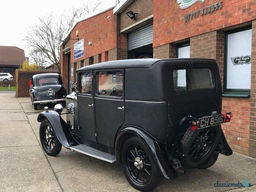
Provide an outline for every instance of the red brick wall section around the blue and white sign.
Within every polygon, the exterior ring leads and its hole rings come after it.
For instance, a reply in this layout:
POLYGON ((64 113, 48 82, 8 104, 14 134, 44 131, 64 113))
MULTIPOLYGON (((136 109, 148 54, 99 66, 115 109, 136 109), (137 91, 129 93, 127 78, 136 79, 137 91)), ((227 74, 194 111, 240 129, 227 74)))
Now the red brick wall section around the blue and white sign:
POLYGON ((76 30, 79 30, 79 39, 84 39, 84 57, 74 60, 74 44, 77 41, 71 40, 71 63, 114 49, 117 38, 116 22, 117 20, 113 16, 113 9, 111 9, 77 23, 71 32, 70 38, 77 38, 76 30), (107 19, 108 16, 111 19, 107 19), (92 45, 89 45, 88 42, 92 42, 92 45))

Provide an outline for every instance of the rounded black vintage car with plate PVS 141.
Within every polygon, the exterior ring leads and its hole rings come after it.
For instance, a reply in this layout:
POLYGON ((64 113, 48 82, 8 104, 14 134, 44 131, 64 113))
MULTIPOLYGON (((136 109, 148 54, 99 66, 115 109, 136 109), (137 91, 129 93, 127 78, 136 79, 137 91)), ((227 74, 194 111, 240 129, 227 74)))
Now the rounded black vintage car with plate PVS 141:
POLYGON ((34 109, 40 103, 60 102, 66 106, 67 90, 58 73, 43 73, 32 76, 29 96, 34 109))

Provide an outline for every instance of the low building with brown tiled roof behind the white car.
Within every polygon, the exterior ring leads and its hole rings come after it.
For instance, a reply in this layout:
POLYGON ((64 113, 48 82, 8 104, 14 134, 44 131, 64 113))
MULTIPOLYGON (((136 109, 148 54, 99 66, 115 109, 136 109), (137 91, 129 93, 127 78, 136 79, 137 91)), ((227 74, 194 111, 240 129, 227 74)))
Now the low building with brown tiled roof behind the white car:
POLYGON ((14 46, 0 46, 0 73, 10 73, 14 77, 15 71, 26 61, 23 49, 14 46))

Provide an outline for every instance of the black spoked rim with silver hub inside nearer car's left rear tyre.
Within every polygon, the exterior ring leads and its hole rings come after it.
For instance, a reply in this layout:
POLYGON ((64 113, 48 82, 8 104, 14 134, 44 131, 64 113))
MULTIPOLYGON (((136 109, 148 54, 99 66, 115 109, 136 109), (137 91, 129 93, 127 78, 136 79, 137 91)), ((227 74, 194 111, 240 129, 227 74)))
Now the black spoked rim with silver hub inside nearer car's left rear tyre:
POLYGON ((151 162, 145 149, 132 143, 126 153, 126 169, 136 183, 146 184, 151 177, 151 162))

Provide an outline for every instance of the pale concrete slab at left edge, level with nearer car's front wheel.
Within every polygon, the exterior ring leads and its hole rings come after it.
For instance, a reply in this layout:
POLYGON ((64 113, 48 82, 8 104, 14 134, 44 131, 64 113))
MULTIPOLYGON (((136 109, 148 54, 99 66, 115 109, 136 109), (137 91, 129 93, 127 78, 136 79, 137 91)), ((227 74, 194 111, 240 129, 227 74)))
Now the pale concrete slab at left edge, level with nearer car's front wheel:
POLYGON ((3 122, 0 126, 0 133, 0 147, 39 145, 28 121, 25 123, 3 122))

